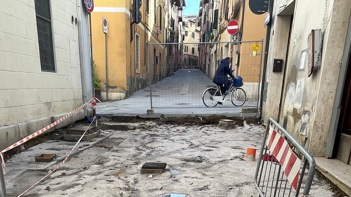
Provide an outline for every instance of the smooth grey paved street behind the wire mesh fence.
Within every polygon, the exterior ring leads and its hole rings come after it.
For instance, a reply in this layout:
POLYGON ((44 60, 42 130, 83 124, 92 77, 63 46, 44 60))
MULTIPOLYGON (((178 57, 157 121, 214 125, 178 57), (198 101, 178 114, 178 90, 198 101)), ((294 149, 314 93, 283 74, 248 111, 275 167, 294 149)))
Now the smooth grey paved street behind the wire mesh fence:
MULTIPOLYGON (((162 114, 239 114, 241 107, 234 107, 228 97, 223 106, 206 108, 202 94, 206 88, 216 87, 201 70, 180 69, 174 75, 151 86, 152 105, 155 113, 162 114)), ((256 106, 246 102, 244 107, 256 106)), ((98 114, 145 114, 150 105, 150 87, 135 92, 122 101, 102 102, 98 114)))

